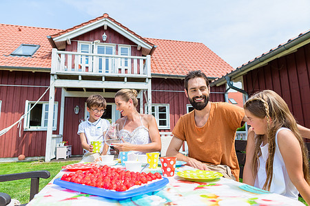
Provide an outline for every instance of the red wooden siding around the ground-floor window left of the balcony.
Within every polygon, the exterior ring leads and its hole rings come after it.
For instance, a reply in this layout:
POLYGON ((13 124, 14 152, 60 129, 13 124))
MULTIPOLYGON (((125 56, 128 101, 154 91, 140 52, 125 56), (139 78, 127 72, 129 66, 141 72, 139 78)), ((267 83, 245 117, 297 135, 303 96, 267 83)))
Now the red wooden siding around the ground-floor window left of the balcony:
MULTIPOLYGON (((27 71, 0 71, 0 84, 30 85, 37 87, 12 87, 0 86, 1 116, 0 130, 17 122, 25 113, 25 101, 37 101, 50 85, 50 73, 27 71)), ((41 101, 48 101, 47 92, 41 101)), ((59 102, 58 120, 60 115, 61 89, 56 89, 55 102, 59 102)), ((46 131, 23 131, 21 121, 21 137, 19 128, 14 126, 6 134, 0 136, 0 158, 18 157, 23 154, 26 157, 45 156, 46 131)), ((57 130, 53 134, 59 134, 59 121, 57 130)))

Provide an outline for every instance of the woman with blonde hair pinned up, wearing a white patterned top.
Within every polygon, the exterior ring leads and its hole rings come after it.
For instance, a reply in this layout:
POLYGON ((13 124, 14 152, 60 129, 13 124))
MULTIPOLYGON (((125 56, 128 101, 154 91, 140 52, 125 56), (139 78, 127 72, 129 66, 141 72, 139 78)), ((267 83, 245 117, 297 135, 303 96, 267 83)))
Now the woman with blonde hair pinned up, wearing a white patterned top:
POLYGON ((136 154, 161 151, 161 136, 153 115, 143 115, 136 111, 138 100, 134 89, 121 89, 115 94, 116 110, 123 117, 116 120, 124 143, 113 146, 124 151, 136 151, 136 154))

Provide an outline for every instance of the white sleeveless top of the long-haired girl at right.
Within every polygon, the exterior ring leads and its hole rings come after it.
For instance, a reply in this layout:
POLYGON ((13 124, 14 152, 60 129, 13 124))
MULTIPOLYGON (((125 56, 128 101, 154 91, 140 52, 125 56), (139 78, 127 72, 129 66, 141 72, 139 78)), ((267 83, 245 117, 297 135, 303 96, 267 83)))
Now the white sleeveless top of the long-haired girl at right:
MULTIPOLYGON (((276 151, 273 159, 273 176, 271 181, 270 192, 274 192, 277 194, 282 194, 284 196, 288 196, 290 198, 294 198, 298 200, 298 190, 289 179, 289 174, 287 174, 287 168, 285 167, 285 162, 283 161, 282 155, 278 146, 278 133, 280 130, 290 130, 289 128, 280 128, 276 132, 276 151)), ((255 179, 255 187, 262 187, 265 184, 267 179, 267 174, 265 170, 266 161, 268 157, 268 145, 265 146, 260 145, 260 150, 262 151, 262 155, 258 158, 259 160, 259 168, 258 173, 255 179)))

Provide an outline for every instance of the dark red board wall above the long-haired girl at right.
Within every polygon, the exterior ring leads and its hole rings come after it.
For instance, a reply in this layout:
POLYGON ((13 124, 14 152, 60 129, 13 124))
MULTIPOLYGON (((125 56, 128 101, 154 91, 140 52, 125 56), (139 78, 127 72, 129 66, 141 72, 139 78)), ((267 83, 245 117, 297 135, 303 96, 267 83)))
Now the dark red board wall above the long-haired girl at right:
POLYGON ((310 128, 310 44, 249 71, 243 81, 249 96, 264 89, 278 93, 298 124, 310 128))

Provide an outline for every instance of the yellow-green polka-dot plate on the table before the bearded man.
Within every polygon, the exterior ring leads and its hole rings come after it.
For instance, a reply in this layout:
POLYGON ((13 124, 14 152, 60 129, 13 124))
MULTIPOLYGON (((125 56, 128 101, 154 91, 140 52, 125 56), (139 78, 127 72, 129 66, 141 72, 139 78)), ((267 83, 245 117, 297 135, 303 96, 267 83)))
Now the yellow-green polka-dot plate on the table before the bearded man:
POLYGON ((181 172, 177 172, 176 175, 187 179, 189 181, 214 181, 215 179, 219 179, 223 174, 220 172, 207 171, 207 170, 185 170, 181 172))

